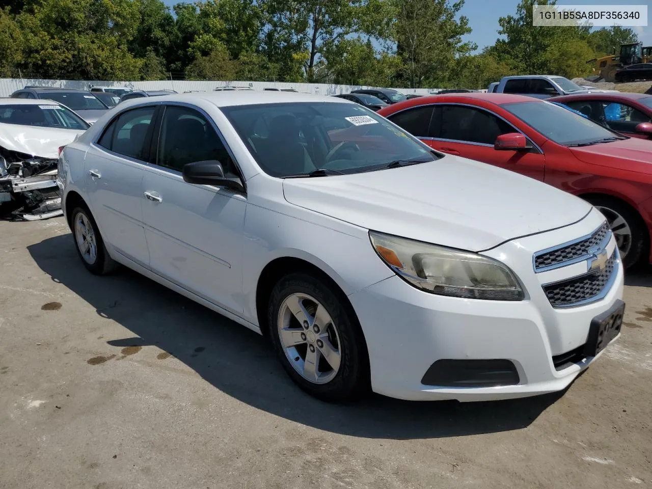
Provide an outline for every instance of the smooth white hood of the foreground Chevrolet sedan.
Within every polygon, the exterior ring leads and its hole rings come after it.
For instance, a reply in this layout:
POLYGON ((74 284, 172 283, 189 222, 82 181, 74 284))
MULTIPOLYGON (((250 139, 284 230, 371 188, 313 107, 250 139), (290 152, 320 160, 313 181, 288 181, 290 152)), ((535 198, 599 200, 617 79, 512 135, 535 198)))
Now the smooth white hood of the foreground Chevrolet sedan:
POLYGON ((556 188, 448 155, 388 170, 285 179, 289 203, 393 235, 481 251, 581 220, 591 206, 556 188))

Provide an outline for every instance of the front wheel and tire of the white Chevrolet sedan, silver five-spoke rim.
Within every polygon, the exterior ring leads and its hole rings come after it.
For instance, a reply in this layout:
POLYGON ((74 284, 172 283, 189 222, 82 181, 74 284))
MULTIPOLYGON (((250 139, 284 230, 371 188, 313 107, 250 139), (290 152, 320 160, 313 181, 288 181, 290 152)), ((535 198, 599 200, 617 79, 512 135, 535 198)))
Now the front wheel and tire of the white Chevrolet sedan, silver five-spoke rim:
POLYGON ((369 390, 366 342, 344 304, 342 292, 323 280, 292 273, 276 283, 267 310, 283 368, 303 391, 327 402, 353 400, 369 390))

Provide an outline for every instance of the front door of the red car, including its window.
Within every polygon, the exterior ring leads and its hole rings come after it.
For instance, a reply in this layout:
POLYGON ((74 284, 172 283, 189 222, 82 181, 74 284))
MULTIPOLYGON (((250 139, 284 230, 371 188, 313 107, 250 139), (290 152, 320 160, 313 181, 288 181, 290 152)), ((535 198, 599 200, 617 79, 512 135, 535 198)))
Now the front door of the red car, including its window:
POLYGON ((520 132, 495 113, 462 104, 437 104, 430 123, 430 142, 434 149, 451 155, 460 155, 516 171, 543 181, 544 155, 529 141, 532 149, 526 151, 498 151, 494 149, 501 134, 520 132))

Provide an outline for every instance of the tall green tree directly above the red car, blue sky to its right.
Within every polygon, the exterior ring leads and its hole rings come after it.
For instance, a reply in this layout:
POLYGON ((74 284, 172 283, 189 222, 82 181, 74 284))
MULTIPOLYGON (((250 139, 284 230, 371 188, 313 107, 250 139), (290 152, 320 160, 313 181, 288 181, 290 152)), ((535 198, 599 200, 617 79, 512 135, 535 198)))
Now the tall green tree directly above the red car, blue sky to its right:
POLYGON ((462 42, 471 32, 468 19, 459 16, 462 7, 464 0, 394 0, 396 52, 409 87, 445 83, 456 59, 477 47, 462 42))

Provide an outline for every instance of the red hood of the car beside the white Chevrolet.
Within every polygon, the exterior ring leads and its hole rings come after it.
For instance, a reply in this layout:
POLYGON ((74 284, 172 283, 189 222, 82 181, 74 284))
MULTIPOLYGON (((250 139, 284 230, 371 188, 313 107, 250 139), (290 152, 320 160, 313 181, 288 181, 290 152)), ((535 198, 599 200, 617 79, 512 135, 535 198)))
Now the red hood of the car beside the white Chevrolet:
POLYGON ((585 163, 652 175, 652 141, 639 138, 569 147, 585 163))

